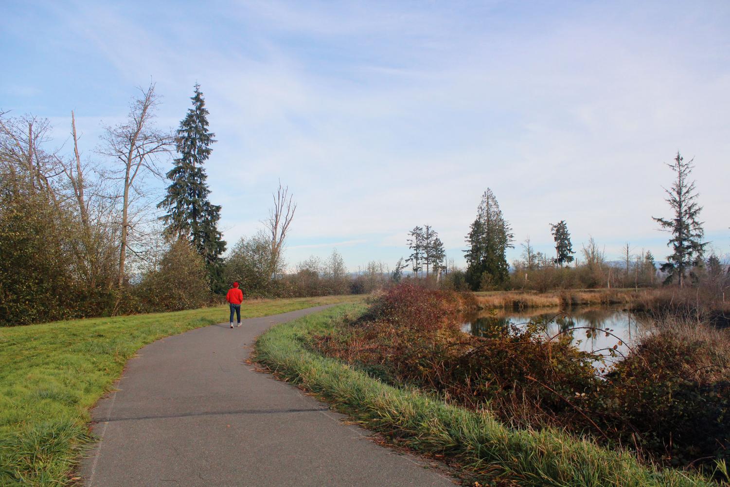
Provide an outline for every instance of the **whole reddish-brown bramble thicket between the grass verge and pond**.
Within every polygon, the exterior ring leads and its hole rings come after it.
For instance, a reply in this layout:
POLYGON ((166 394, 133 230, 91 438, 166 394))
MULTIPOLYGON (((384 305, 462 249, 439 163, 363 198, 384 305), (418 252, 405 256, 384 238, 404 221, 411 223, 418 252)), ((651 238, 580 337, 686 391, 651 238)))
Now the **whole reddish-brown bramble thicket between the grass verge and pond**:
POLYGON ((483 337, 461 333, 456 310, 463 302, 401 283, 377 296, 359 321, 315 335, 310 345, 388 383, 486 408, 511 426, 590 434, 669 465, 729 458, 726 332, 663 323, 602 377, 595 367, 602 356, 577 348, 576 331, 548 337, 548 321, 503 323, 483 337))

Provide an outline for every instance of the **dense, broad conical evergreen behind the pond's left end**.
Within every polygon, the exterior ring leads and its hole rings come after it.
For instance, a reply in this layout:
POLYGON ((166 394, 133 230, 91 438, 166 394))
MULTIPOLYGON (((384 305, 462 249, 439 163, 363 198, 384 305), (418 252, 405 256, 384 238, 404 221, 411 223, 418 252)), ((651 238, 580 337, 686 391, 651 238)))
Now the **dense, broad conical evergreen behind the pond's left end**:
POLYGON ((473 290, 487 283, 500 285, 509 277, 507 248, 512 248, 512 227, 504 219, 494 193, 487 188, 466 243, 466 280, 473 290))

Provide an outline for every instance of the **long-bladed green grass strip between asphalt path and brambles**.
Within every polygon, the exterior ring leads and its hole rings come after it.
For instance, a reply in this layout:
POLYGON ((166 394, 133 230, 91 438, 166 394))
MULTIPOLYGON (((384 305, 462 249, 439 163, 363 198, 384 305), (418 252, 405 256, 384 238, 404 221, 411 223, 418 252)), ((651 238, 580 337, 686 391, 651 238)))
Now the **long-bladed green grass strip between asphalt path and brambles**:
POLYGON ((607 450, 563 432, 507 428, 488 413, 387 386, 304 348, 307 335, 334 329, 346 315, 363 310, 359 304, 342 304, 275 326, 259 337, 257 360, 397 444, 444 455, 466 478, 484 485, 717 486, 694 474, 639 464, 629 452, 607 450))

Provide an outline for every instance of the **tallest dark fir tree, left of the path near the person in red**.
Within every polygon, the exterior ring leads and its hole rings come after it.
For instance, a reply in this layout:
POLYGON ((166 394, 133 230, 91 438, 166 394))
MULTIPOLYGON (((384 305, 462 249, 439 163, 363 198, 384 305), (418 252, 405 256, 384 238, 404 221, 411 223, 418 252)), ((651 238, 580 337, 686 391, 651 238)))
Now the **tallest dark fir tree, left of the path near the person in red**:
POLYGON ((222 258, 226 242, 218 231, 220 206, 208 199, 210 189, 203 164, 210 158, 210 146, 216 142, 215 134, 208 131, 208 110, 203 93, 196 83, 191 97, 193 107, 177 129, 177 153, 174 166, 167 173, 172 183, 167 187, 165 198, 158 204, 166 214, 161 219, 166 224, 168 237, 185 237, 204 258, 214 292, 223 290, 222 258))

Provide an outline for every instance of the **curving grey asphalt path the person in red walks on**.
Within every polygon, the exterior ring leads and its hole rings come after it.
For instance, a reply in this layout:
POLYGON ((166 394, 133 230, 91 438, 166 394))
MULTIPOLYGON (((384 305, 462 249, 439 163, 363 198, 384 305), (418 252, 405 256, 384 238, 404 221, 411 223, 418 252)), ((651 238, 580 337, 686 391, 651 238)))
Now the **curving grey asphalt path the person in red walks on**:
POLYGON ((269 326, 323 308, 241 328, 221 323, 142 348, 118 391, 93 410, 101 441, 82 461, 85 486, 453 486, 244 363, 269 326))

